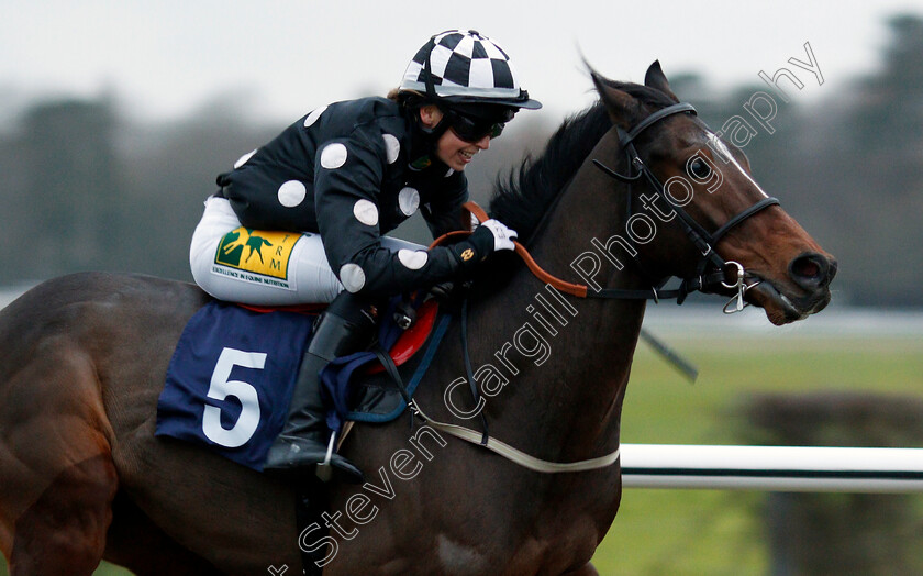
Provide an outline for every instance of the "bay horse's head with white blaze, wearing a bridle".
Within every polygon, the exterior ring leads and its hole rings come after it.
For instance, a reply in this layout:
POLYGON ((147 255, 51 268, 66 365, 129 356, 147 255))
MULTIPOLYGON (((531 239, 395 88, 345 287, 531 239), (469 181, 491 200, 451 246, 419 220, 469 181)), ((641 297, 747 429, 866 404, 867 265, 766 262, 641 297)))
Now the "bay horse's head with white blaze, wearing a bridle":
POLYGON ((704 278, 703 291, 739 293, 777 325, 830 302, 836 261, 760 189, 744 153, 679 103, 658 63, 645 86, 592 76, 625 155, 607 171, 631 184, 647 276, 704 278))

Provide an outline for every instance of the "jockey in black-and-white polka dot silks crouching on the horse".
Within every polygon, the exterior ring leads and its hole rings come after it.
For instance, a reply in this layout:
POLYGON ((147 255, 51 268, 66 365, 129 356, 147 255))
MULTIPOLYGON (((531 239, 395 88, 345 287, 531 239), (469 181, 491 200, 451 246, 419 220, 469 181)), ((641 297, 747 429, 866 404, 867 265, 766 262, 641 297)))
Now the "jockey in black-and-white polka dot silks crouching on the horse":
POLYGON ((466 229, 465 167, 519 109, 541 106, 520 88, 496 42, 475 31, 443 32, 416 53, 387 99, 319 108, 218 177, 190 247, 198 285, 251 304, 331 302, 265 469, 330 464, 343 479, 362 481, 362 472, 333 453, 318 373, 369 342, 389 297, 464 278, 492 252, 512 250, 516 237, 496 220, 432 250, 383 234, 418 208, 434 236, 466 229), (227 268, 223 256, 234 247, 244 248, 247 265, 285 274, 227 268))

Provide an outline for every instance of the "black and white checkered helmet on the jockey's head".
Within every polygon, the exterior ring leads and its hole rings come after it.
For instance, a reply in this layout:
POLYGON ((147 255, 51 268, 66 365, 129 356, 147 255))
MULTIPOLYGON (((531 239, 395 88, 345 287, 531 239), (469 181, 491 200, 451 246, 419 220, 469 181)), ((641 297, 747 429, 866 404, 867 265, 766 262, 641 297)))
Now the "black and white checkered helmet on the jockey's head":
POLYGON ((507 53, 474 30, 431 37, 408 65, 399 89, 449 103, 542 108, 520 87, 507 53))

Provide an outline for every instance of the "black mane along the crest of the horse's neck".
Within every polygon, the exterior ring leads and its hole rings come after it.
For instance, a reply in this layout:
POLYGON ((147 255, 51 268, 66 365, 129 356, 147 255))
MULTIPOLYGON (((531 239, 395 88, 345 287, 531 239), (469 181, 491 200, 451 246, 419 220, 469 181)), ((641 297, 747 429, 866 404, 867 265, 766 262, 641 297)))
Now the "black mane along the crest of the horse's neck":
MULTIPOLYGON (((605 84, 629 92, 648 113, 675 103, 654 88, 613 80, 605 80, 605 84)), ((611 128, 612 121, 602 101, 566 119, 538 158, 527 156, 519 169, 511 170, 505 181, 497 182, 490 200, 491 217, 515 230, 527 243, 564 187, 611 128)))

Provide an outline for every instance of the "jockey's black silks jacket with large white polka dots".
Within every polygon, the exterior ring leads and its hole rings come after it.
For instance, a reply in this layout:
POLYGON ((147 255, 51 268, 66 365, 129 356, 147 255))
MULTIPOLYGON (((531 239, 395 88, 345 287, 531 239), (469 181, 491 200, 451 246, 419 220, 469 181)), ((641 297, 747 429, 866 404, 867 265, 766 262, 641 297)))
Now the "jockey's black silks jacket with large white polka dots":
POLYGON ((379 244, 425 204, 434 234, 457 229, 467 179, 433 160, 412 169, 411 125, 383 98, 313 110, 221 175, 219 196, 241 223, 320 232, 331 268, 353 292, 391 295, 453 277, 446 248, 391 252, 379 244))

